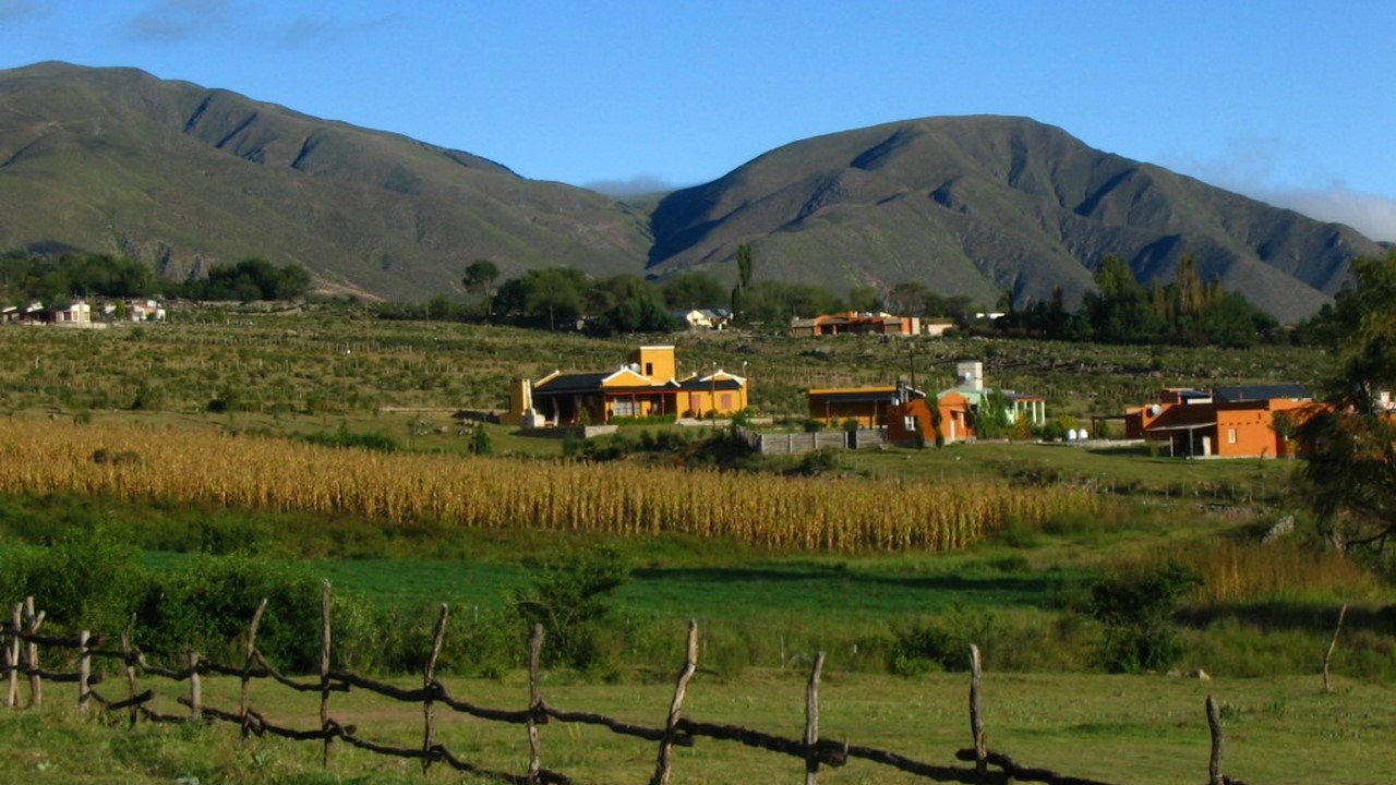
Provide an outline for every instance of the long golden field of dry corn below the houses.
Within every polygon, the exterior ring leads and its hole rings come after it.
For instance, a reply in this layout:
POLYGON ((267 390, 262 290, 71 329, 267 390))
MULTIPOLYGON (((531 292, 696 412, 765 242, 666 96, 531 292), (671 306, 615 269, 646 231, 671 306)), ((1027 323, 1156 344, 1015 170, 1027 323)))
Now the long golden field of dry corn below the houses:
POLYGON ((0 493, 420 520, 473 529, 683 534, 768 549, 935 552, 1008 520, 1089 511, 1079 487, 780 478, 321 447, 141 425, 0 420, 0 493))

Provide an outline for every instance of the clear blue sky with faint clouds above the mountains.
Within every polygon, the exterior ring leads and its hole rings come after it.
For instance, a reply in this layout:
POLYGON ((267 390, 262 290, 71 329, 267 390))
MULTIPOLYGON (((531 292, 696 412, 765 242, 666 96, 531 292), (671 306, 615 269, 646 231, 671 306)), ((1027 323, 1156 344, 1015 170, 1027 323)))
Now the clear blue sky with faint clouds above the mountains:
POLYGON ((1396 240, 1396 3, 0 0, 0 67, 133 66, 625 190, 1018 115, 1396 240))

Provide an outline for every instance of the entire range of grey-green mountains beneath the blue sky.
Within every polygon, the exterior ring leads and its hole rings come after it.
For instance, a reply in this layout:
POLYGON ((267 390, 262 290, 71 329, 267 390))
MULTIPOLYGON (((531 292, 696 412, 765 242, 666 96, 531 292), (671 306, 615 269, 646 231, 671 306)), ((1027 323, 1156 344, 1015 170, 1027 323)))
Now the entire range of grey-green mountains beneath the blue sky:
MULTIPOLYGON (((695 187, 641 200, 519 177, 399 134, 163 81, 134 68, 0 70, 0 249, 127 256, 183 278, 262 257, 329 293, 463 295, 490 258, 504 278, 755 278, 836 291, 916 281, 1019 305, 1076 302, 1106 254, 1171 281, 1208 279, 1282 320, 1328 302, 1354 229, 1309 219, 1023 117, 928 117, 796 141, 695 187)), ((715 303, 716 305, 716 303, 715 303)))

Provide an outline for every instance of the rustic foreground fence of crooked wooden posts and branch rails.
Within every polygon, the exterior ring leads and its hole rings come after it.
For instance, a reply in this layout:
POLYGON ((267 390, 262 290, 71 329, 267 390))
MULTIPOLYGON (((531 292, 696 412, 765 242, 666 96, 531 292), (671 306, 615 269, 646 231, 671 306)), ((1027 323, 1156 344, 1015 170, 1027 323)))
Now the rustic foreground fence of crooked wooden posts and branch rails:
MULTIPOLYGON (((0 651, 4 654, 4 672, 8 677, 7 705, 21 708, 21 676, 28 679, 28 701, 24 707, 38 707, 43 701, 43 683, 77 683, 77 700, 82 712, 89 712, 96 704, 107 712, 128 712, 130 724, 138 721, 152 722, 202 722, 219 721, 236 725, 244 738, 279 736, 293 740, 320 742, 322 744, 322 764, 331 765, 331 749, 335 742, 352 744, 370 753, 394 756, 401 758, 415 758, 422 764, 423 774, 433 764, 444 764, 456 771, 480 775, 500 782, 521 785, 533 784, 571 784, 572 779, 560 771, 544 768, 542 764, 542 738, 539 726, 549 721, 575 722, 597 725, 614 733, 645 739, 658 744, 655 772, 651 785, 664 785, 670 781, 673 758, 670 751, 674 746, 691 747, 697 739, 719 739, 738 742, 750 747, 783 754, 801 761, 804 767, 804 781, 815 785, 822 767, 842 767, 850 760, 864 760, 898 771, 913 774, 935 782, 965 782, 965 784, 994 784, 1007 785, 1009 782, 1046 782, 1048 785, 1107 785, 1094 779, 1069 777, 1054 771, 1023 765, 1002 751, 991 750, 986 746, 984 724, 980 712, 980 656, 977 647, 970 647, 970 683, 969 683, 969 738, 972 746, 956 753, 956 760, 965 765, 937 765, 913 760, 910 757, 881 750, 877 747, 854 746, 846 740, 826 739, 819 736, 819 677, 824 669, 824 652, 814 658, 805 690, 805 731, 803 738, 782 738, 762 731, 741 728, 736 725, 720 725, 702 722, 684 717, 683 703, 688 690, 688 683, 698 669, 698 624, 688 623, 688 647, 683 668, 678 672, 674 696, 669 707, 663 726, 645 726, 586 711, 567 711, 549 704, 543 698, 540 689, 539 656, 543 647, 543 627, 535 626, 529 644, 528 672, 529 697, 528 707, 519 710, 490 708, 476 705, 452 696, 447 687, 437 680, 436 666, 445 638, 448 609, 441 605, 441 613, 436 623, 431 650, 423 668, 422 687, 405 689, 385 682, 378 682, 359 673, 335 670, 331 668, 331 595, 327 581, 321 592, 321 648, 320 672, 314 679, 297 680, 281 673, 257 650, 257 627, 262 613, 267 610, 267 601, 262 599, 251 616, 247 627, 247 643, 243 650, 240 665, 222 663, 202 658, 198 652, 188 652, 184 666, 180 669, 166 669, 147 662, 145 655, 131 644, 131 626, 120 636, 120 645, 112 647, 112 641, 103 636, 92 636, 81 631, 73 637, 45 636, 40 629, 45 613, 35 613, 34 598, 27 598, 22 603, 15 603, 11 609, 10 624, 4 629, 4 640, 0 641, 0 651), (75 672, 54 672, 39 665, 39 647, 50 647, 67 652, 67 659, 77 662, 75 672), (94 687, 105 684, 101 672, 94 673, 92 661, 106 659, 120 663, 126 697, 117 698, 103 696, 94 687), (209 673, 236 676, 242 682, 239 705, 236 708, 216 708, 205 705, 202 700, 201 677, 209 673), (156 677, 174 682, 187 682, 187 694, 177 701, 188 708, 187 714, 161 714, 149 704, 155 698, 151 689, 141 690, 141 677, 156 677), (320 694, 320 725, 315 728, 289 728, 269 722, 251 703, 251 684, 254 680, 271 680, 274 684, 320 694), (423 711, 422 744, 415 747, 392 746, 378 743, 359 736, 353 725, 338 722, 331 714, 331 696, 345 693, 350 689, 360 689, 381 696, 388 700, 419 704, 423 711), (526 732, 529 747, 528 768, 524 772, 490 771, 450 750, 437 742, 436 718, 438 707, 475 717, 490 722, 507 722, 522 725, 526 732)), ((1212 733, 1212 757, 1209 785, 1244 785, 1238 779, 1231 779, 1222 774, 1223 735, 1220 714, 1212 696, 1206 700, 1206 717, 1212 733)))

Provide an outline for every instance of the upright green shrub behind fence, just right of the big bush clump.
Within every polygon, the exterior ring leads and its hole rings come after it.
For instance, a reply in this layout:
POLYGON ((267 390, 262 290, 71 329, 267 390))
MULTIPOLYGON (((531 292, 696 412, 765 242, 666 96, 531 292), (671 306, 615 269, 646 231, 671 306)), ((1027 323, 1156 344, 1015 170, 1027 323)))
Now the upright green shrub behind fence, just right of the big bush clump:
POLYGON ((591 670, 610 665, 614 591, 628 581, 630 567, 614 548, 565 550, 515 591, 514 606, 529 627, 543 626, 544 662, 591 670))

